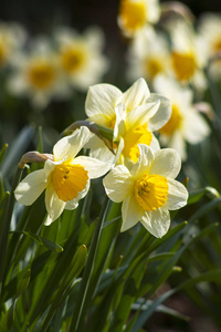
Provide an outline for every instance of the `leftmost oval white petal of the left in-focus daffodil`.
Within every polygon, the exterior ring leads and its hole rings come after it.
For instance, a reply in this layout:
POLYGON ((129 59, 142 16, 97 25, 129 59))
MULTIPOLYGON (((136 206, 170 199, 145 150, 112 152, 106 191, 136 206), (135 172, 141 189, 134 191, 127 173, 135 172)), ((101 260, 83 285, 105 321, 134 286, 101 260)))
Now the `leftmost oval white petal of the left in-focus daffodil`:
POLYGON ((15 188, 15 199, 23 205, 32 205, 46 187, 44 169, 29 174, 15 188))

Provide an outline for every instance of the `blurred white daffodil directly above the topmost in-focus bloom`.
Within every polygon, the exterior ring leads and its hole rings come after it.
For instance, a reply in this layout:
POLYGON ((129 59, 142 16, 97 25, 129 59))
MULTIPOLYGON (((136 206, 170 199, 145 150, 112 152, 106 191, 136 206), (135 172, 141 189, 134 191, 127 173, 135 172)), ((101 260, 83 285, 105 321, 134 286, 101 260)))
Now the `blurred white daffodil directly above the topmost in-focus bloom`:
POLYGON ((128 50, 129 80, 143 76, 147 82, 158 74, 171 75, 171 59, 166 37, 154 29, 145 29, 134 38, 128 50))

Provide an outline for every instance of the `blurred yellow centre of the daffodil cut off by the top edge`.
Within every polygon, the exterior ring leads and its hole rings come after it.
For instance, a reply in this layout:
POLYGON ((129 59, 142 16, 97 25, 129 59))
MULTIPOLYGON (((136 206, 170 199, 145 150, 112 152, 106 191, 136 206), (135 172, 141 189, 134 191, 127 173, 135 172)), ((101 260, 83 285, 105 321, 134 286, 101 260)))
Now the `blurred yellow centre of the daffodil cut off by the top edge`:
POLYGON ((122 0, 119 17, 123 20, 125 29, 129 31, 136 31, 144 27, 146 22, 146 7, 144 1, 131 2, 129 0, 122 0))

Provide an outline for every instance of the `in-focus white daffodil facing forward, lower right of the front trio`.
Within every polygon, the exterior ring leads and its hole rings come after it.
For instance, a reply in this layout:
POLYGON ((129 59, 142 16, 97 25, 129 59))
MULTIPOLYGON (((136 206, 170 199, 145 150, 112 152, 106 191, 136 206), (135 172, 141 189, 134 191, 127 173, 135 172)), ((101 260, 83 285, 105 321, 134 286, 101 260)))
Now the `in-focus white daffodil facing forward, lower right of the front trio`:
POLYGON ((188 191, 175 180, 181 162, 170 148, 154 152, 139 145, 140 156, 129 170, 118 165, 108 173, 103 183, 107 196, 122 205, 122 231, 140 221, 155 237, 162 237, 169 229, 169 210, 187 204, 188 191))

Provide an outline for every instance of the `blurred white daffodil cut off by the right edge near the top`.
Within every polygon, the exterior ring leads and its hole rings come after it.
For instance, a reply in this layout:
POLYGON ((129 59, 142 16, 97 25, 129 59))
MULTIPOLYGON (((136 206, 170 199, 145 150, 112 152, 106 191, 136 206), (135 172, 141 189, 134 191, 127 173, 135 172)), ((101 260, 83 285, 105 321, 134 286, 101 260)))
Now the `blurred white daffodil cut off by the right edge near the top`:
POLYGON ((199 35, 202 38, 210 62, 210 74, 221 79, 221 14, 207 13, 199 21, 199 35))

